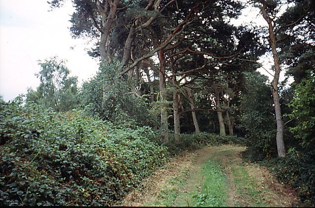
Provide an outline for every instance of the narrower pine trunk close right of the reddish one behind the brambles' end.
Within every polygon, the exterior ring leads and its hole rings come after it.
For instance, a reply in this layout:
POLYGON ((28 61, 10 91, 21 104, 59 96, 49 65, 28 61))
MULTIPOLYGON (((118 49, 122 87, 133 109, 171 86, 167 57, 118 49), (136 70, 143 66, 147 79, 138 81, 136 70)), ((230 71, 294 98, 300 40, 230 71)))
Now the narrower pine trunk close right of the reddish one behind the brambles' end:
MULTIPOLYGON (((176 77, 172 78, 173 85, 176 86, 176 77)), ((180 140, 181 126, 180 126, 180 117, 179 117, 179 95, 177 90, 173 92, 173 108, 174 108, 174 137, 175 141, 180 140)))

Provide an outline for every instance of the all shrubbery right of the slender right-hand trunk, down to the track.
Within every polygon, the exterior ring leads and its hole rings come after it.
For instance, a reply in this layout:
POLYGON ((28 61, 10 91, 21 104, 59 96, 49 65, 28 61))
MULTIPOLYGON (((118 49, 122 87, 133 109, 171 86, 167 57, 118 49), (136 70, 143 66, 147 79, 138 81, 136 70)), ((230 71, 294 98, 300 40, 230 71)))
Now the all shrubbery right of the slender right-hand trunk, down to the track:
POLYGON ((305 206, 315 205, 315 79, 314 72, 293 84, 293 99, 286 105, 291 119, 289 130, 295 137, 295 145, 285 158, 266 161, 275 176, 295 188, 305 206), (293 123, 293 124, 292 124, 293 123))

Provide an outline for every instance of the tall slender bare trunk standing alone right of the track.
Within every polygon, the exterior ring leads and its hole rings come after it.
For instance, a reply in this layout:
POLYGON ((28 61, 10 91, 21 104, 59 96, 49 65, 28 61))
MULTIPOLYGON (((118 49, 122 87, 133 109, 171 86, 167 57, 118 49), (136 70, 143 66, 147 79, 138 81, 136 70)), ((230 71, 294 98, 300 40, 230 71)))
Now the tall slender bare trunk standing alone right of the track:
POLYGON ((279 77, 280 77, 280 60, 279 55, 277 52, 277 39, 274 33, 274 25, 273 20, 269 17, 266 11, 267 4, 265 1, 262 1, 263 6, 261 8, 263 18, 268 23, 268 31, 269 31, 269 40, 270 40, 270 46, 274 58, 274 64, 275 64, 275 76, 271 82, 272 86, 272 95, 274 99, 274 105, 275 105, 275 113, 276 113, 276 122, 277 122, 277 149, 278 149, 278 156, 283 157, 285 156, 285 147, 284 147, 284 123, 282 120, 282 113, 281 113, 281 105, 280 105, 280 98, 278 93, 278 83, 279 83, 279 77))

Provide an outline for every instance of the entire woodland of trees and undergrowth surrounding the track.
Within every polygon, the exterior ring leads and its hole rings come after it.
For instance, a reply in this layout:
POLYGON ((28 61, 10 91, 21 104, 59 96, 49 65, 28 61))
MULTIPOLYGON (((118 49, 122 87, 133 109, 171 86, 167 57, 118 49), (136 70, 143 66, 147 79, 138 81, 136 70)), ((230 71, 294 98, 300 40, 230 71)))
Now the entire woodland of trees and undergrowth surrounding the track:
POLYGON ((99 70, 78 86, 47 58, 35 90, 0 98, 0 206, 111 206, 173 156, 222 144, 315 205, 314 0, 72 4, 99 70), (245 7, 265 26, 232 25, 245 7))

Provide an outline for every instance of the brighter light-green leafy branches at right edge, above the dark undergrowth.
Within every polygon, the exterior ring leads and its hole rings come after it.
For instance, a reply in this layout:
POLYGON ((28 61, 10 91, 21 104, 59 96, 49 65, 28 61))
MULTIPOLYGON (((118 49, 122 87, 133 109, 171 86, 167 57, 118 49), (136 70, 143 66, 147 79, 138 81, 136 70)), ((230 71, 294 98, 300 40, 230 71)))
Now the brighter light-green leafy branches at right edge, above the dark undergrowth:
POLYGON ((307 78, 294 85, 293 100, 288 104, 292 109, 289 118, 297 121, 289 130, 301 141, 307 151, 315 151, 315 72, 309 71, 307 78))

